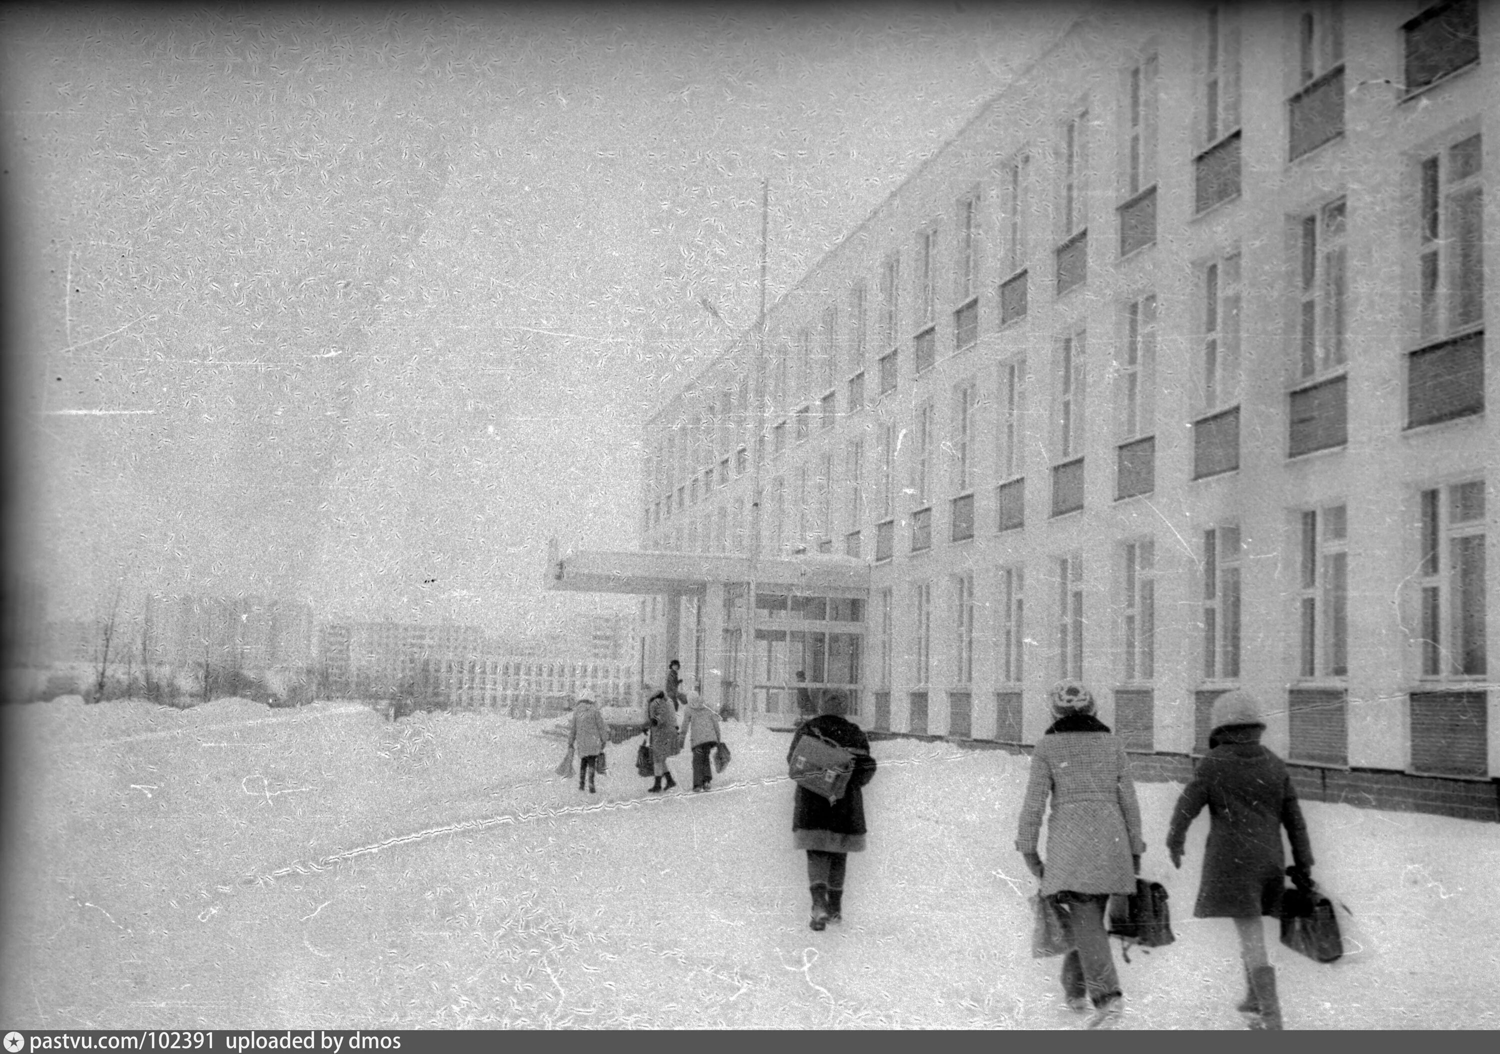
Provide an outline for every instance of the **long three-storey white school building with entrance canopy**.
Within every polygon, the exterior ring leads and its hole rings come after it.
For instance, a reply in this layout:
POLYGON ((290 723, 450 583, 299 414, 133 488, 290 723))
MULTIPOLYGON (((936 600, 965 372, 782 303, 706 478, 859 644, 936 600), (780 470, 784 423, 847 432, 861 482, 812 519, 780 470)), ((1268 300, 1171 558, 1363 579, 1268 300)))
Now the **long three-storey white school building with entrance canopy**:
POLYGON ((1080 678, 1179 777, 1239 687, 1308 795, 1500 816, 1497 70, 1476 0, 1101 6, 670 393, 644 552, 554 585, 772 724, 1024 747, 1080 678))

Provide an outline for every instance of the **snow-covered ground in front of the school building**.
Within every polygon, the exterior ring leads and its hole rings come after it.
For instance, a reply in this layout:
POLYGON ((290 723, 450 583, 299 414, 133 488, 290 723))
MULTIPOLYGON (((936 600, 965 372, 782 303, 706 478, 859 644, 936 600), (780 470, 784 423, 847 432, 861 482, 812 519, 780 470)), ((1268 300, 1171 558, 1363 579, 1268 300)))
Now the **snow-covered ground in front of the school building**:
MULTIPOLYGON (((357 703, 3 708, 0 1023, 66 1027, 1076 1029, 1029 954, 1026 759, 879 742, 846 922, 807 928, 788 736, 724 724, 714 790, 600 793, 543 724, 357 703)), ((687 784, 690 757, 672 763, 687 784)), ((1191 918, 1172 784, 1140 784, 1178 942, 1120 964, 1126 1029, 1239 1029, 1232 927, 1191 918)), ((1500 825, 1304 805, 1344 961, 1274 945, 1293 1029, 1500 1027, 1500 825)))

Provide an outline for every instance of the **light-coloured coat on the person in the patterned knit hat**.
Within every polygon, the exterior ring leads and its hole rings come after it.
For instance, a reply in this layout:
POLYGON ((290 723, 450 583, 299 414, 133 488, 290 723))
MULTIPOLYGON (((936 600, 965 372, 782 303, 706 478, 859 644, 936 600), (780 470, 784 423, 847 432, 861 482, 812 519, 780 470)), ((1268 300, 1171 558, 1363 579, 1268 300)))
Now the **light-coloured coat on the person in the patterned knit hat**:
POLYGON ((1132 894, 1131 855, 1146 852, 1125 744, 1107 732, 1054 732, 1032 753, 1016 849, 1035 853, 1047 819, 1041 892, 1132 894))

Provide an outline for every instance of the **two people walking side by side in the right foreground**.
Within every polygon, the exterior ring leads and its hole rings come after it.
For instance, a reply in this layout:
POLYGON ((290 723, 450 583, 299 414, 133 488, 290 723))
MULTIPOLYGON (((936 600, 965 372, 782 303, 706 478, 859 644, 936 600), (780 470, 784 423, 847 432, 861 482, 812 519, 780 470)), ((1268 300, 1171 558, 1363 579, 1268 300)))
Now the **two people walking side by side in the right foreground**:
MULTIPOLYGON (((1095 715, 1094 696, 1076 681, 1052 690, 1053 723, 1030 760, 1016 849, 1041 882, 1040 894, 1060 909, 1072 949, 1062 961, 1068 1006, 1092 1011, 1090 1029, 1113 1027, 1122 1012, 1119 975, 1106 930, 1112 894, 1136 892, 1142 840, 1140 807, 1125 745, 1095 715), (1042 813, 1047 859, 1038 850, 1042 813)), ((1194 817, 1209 810, 1203 879, 1192 915, 1233 919, 1246 994, 1238 1009, 1257 1029, 1281 1029, 1276 972, 1266 955, 1263 916, 1280 916, 1286 888, 1281 831, 1292 843, 1293 873, 1311 882, 1312 847, 1286 763, 1260 744, 1260 705, 1245 691, 1214 702, 1209 751, 1178 798, 1167 829, 1167 855, 1182 867, 1194 817)))

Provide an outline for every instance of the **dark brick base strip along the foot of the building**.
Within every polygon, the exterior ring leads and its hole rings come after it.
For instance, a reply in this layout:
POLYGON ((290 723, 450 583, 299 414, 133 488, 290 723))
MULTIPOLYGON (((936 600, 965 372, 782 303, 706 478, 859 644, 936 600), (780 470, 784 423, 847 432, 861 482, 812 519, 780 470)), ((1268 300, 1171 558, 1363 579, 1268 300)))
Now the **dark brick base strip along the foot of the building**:
MULTIPOLYGON (((904 732, 867 732, 872 741, 922 739, 946 736, 912 736, 904 732)), ((1002 744, 992 739, 948 739, 964 750, 1004 750, 1029 754, 1028 744, 1002 744)), ((1197 766, 1190 754, 1131 753, 1131 777, 1142 783, 1186 783, 1197 766)), ((1428 813, 1460 820, 1500 823, 1500 780, 1458 780, 1448 777, 1412 775, 1392 769, 1326 769, 1317 765, 1287 762, 1292 784, 1304 801, 1336 802, 1359 808, 1383 808, 1398 813, 1428 813)))

